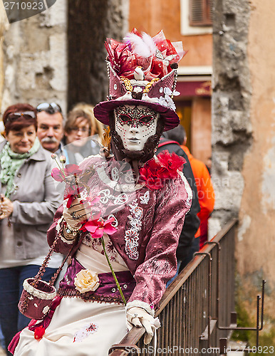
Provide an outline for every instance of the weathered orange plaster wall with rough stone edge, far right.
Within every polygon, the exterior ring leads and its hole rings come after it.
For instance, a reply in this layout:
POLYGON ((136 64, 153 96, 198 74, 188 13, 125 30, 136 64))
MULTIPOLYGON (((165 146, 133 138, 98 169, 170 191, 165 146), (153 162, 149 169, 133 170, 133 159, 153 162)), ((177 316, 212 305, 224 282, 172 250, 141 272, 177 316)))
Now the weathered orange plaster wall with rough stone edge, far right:
MULTIPOLYGON (((256 324, 266 280, 262 346, 275 342, 275 9, 268 0, 214 1, 213 236, 233 216, 237 304, 256 324)), ((210 237, 211 237, 210 236, 210 237)), ((255 345, 254 333, 250 333, 255 345)))

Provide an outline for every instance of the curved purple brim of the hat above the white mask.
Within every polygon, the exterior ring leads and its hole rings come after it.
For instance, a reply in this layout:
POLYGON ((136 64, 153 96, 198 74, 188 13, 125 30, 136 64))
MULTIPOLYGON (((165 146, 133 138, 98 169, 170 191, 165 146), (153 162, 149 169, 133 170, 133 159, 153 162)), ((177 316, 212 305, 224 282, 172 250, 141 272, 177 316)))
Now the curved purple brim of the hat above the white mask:
POLYGON ((113 111, 115 108, 118 108, 120 105, 142 105, 155 110, 162 115, 165 119, 165 128, 164 131, 172 130, 174 127, 177 127, 180 123, 180 119, 177 116, 177 113, 170 109, 165 108, 165 106, 155 104, 155 103, 148 103, 144 100, 109 100, 109 101, 102 101, 95 105, 93 108, 93 113, 98 121, 102 122, 104 125, 109 125, 109 113, 113 111))

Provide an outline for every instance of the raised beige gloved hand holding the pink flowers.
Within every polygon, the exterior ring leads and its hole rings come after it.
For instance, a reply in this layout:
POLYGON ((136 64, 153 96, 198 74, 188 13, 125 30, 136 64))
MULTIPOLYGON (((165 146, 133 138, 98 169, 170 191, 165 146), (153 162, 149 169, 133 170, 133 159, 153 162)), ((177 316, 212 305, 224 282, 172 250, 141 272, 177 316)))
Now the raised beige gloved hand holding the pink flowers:
POLYGON ((81 227, 83 221, 90 217, 90 204, 82 203, 81 198, 76 197, 69 208, 64 207, 63 216, 67 224, 73 228, 81 227))

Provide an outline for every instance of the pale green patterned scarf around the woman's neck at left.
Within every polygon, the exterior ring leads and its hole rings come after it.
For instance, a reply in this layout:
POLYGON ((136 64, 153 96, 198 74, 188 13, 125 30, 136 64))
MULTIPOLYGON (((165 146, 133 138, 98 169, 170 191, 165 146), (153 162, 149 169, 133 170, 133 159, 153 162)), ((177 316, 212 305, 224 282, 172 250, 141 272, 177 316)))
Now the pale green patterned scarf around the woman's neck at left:
POLYGON ((12 151, 9 142, 6 142, 6 145, 4 145, 4 148, 0 155, 0 180, 2 184, 6 185, 5 196, 7 198, 9 198, 11 193, 14 192, 14 176, 16 172, 18 172, 19 168, 24 164, 25 159, 31 157, 33 153, 36 153, 39 150, 39 147, 40 142, 37 137, 36 140, 34 140, 33 147, 31 147, 31 150, 26 153, 16 153, 12 151))

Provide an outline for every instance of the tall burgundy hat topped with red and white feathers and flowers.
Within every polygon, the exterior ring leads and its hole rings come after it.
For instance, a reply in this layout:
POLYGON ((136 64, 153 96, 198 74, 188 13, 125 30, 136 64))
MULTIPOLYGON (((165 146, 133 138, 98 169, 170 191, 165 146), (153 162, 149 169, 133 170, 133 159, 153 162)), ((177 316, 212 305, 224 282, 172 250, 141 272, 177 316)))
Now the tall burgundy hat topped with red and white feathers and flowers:
POLYGON ((162 31, 150 37, 135 28, 123 42, 107 38, 108 100, 95 106, 95 117, 109 125, 109 112, 120 105, 143 105, 165 119, 165 131, 180 120, 172 98, 177 81, 177 63, 185 55, 182 42, 170 42, 162 31))

